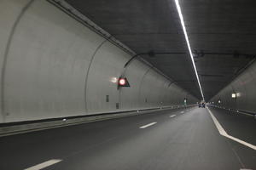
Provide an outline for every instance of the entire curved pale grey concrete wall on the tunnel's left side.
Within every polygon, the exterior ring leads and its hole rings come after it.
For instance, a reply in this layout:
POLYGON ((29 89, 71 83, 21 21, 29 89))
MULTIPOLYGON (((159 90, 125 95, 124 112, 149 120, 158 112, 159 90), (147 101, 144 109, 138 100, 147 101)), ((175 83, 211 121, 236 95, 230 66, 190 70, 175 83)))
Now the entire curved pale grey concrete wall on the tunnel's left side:
POLYGON ((1 0, 0 23, 0 123, 197 101, 138 60, 118 90, 131 55, 45 0, 1 0))

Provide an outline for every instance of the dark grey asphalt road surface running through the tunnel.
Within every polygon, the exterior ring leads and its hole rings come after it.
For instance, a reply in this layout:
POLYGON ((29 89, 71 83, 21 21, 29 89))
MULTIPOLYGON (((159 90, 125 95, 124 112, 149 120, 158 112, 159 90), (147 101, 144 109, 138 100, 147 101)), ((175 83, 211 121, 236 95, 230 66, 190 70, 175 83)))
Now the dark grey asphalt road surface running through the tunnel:
MULTIPOLYGON (((209 109, 227 133, 256 144, 252 116, 209 109)), ((256 151, 220 135, 207 109, 192 107, 2 137, 0 169, 256 169, 256 151)))

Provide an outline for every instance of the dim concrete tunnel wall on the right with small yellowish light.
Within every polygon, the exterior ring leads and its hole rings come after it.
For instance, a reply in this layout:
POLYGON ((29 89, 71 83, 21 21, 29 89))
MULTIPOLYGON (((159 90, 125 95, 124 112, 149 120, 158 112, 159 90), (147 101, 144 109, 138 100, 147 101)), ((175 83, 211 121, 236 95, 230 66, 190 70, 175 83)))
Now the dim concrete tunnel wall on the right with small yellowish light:
POLYGON ((233 82, 222 89, 211 100, 214 105, 223 106, 230 109, 256 112, 256 63, 250 65, 241 73, 233 82), (231 94, 235 93, 236 98, 232 98, 231 94), (221 103, 218 103, 218 99, 221 103))

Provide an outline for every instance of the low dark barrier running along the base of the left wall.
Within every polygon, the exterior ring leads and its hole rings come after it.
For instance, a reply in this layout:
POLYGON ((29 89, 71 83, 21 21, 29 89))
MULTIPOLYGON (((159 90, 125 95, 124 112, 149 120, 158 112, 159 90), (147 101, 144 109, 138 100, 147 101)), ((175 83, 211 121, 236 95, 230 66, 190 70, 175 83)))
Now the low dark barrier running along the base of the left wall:
MULTIPOLYGON (((193 107, 195 105, 187 105, 187 107, 193 107)), ((99 113, 95 115, 84 115, 84 116, 69 116, 69 117, 58 117, 35 121, 25 122, 7 122, 0 123, 0 137, 9 136, 18 133, 29 133, 44 129, 50 129, 55 127, 66 127, 77 124, 83 124, 87 122, 97 122, 108 119, 120 118, 124 116, 136 116, 141 114, 153 113, 154 111, 165 111, 165 110, 176 110, 183 109, 184 107, 178 105, 162 106, 153 108, 143 108, 139 110, 130 111, 115 111, 99 113)))

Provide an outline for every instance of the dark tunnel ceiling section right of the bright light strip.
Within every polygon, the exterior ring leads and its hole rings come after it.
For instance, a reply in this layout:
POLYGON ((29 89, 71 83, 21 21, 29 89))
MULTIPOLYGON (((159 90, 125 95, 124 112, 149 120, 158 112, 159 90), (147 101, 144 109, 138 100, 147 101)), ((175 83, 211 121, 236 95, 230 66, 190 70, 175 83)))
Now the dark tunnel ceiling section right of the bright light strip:
POLYGON ((206 99, 217 94, 256 54, 255 0, 179 0, 206 99))

